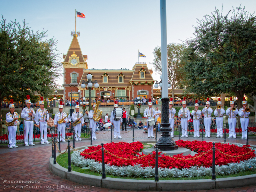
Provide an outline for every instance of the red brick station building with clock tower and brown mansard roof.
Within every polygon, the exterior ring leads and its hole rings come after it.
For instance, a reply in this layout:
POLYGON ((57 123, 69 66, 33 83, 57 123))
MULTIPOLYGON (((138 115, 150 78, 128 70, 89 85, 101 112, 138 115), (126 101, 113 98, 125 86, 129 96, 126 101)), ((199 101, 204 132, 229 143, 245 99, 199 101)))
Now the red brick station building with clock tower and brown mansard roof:
POLYGON ((96 100, 108 98, 126 98, 131 100, 139 95, 153 97, 154 79, 146 63, 135 63, 132 69, 88 69, 87 55, 82 54, 77 35, 73 35, 67 54, 63 55, 61 62, 64 68, 64 92, 63 98, 70 99, 78 97, 89 98, 89 90, 81 88, 83 80, 86 82, 86 75, 92 74, 92 81, 97 80, 99 88, 92 87, 91 96, 96 100), (81 92, 79 93, 78 90, 81 92))

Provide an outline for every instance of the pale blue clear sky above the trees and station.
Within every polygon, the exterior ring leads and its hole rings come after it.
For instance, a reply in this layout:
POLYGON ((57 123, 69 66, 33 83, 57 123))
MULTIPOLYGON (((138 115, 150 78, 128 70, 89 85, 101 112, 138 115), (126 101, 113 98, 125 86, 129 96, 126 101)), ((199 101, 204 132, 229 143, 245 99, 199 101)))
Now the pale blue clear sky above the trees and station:
MULTIPOLYGON (((253 13, 255 0, 226 1, 171 1, 167 0, 167 43, 180 43, 192 37, 192 25, 197 18, 217 9, 223 14, 242 3, 253 13)), ((132 68, 138 62, 138 49, 146 57, 149 69, 153 66, 153 49, 161 46, 159 0, 77 0, 77 1, 21 1, 0 0, 0 14, 9 22, 26 20, 34 30, 48 30, 48 37, 58 41, 58 51, 63 54, 71 43, 70 31, 75 29, 75 9, 86 18, 77 18, 78 41, 83 54, 88 54, 88 67, 96 69, 132 68)), ((61 60, 63 61, 63 59, 61 60)), ((159 75, 153 73, 155 80, 159 75)), ((58 80, 63 84, 63 78, 58 80)))

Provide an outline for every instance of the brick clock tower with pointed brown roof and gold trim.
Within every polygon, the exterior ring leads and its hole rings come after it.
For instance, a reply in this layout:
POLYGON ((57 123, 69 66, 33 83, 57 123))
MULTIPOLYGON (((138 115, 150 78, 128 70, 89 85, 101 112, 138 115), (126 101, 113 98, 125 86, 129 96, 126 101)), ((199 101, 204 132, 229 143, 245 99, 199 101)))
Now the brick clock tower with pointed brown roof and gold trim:
POLYGON ((63 65, 63 79, 64 79, 64 93, 63 99, 66 98, 69 100, 71 97, 72 90, 72 99, 77 99, 78 97, 83 97, 82 92, 79 95, 77 86, 83 76, 83 70, 88 69, 87 65, 87 55, 82 54, 82 50, 80 48, 77 34, 73 34, 73 39, 69 46, 66 55, 63 55, 64 61, 61 62, 63 65))

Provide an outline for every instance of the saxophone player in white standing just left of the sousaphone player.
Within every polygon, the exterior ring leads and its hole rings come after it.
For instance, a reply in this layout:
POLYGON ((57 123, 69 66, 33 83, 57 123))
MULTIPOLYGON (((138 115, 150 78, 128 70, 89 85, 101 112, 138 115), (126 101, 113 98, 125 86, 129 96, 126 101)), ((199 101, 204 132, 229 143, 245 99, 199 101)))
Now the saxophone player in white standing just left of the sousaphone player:
POLYGON ((76 111, 72 114, 72 118, 71 119, 73 121, 78 120, 79 123, 74 126, 74 129, 75 129, 75 136, 74 137, 75 137, 76 141, 82 141, 80 136, 81 136, 82 126, 84 125, 84 119, 83 119, 83 113, 81 113, 79 111, 79 102, 76 102, 75 108, 76 108, 76 111), (77 135, 78 135, 78 137, 77 137, 77 135))

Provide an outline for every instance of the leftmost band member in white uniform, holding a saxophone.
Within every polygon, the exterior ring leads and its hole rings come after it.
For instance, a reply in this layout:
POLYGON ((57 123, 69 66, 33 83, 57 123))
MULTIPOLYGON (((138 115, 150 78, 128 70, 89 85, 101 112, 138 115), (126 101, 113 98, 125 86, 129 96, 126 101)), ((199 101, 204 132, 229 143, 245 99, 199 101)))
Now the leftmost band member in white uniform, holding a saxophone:
POLYGON ((10 108, 10 112, 6 113, 6 121, 9 123, 15 120, 10 126, 8 126, 8 138, 9 138, 8 147, 12 149, 12 148, 18 147, 16 146, 16 132, 17 132, 17 123, 19 119, 18 113, 14 112, 15 107, 12 99, 11 99, 11 104, 9 105, 9 108, 10 108))

